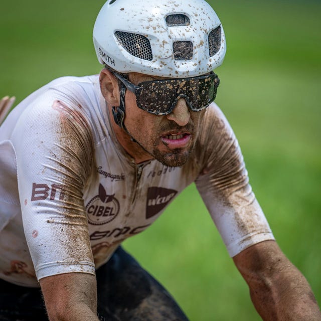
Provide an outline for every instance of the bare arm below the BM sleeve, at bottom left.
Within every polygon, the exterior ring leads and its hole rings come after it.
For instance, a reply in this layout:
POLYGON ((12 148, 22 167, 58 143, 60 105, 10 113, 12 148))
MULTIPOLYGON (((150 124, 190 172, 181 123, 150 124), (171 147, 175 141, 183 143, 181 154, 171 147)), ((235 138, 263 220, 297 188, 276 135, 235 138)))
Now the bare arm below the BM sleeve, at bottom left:
POLYGON ((96 277, 65 273, 40 280, 50 321, 98 321, 96 277))

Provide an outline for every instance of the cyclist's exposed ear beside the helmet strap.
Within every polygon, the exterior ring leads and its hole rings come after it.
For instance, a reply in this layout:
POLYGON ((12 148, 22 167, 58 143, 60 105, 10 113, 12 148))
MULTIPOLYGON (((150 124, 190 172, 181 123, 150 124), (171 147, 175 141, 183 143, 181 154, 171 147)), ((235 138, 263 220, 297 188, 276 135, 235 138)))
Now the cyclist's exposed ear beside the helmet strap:
POLYGON ((117 78, 106 68, 99 75, 100 90, 110 106, 119 106, 119 87, 117 78))

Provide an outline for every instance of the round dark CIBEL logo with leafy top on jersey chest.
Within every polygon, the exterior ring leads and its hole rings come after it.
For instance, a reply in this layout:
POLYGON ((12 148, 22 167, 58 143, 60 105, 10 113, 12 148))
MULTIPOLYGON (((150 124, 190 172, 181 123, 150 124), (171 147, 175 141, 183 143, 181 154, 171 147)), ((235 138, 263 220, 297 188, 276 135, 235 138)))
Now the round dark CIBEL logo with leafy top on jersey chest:
POLYGON ((103 225, 111 222, 119 213, 119 202, 115 194, 107 195, 104 187, 99 184, 98 195, 86 205, 88 222, 93 225, 103 225))

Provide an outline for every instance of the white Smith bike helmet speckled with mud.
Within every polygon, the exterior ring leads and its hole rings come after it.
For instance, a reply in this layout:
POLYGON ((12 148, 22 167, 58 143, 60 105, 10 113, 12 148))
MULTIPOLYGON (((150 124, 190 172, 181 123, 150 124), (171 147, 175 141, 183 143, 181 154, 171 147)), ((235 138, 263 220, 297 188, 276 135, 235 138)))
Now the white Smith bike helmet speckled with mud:
POLYGON ((101 64, 170 78, 210 72, 226 52, 221 22, 204 0, 108 0, 93 41, 101 64))

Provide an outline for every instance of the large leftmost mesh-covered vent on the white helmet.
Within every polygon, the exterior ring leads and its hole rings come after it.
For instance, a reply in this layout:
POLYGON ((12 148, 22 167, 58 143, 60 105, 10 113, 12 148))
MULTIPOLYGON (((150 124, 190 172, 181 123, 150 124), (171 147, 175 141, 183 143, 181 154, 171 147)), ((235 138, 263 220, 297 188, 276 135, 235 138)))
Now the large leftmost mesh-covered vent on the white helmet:
POLYGON ((143 60, 152 60, 152 51, 147 37, 123 31, 116 31, 115 36, 131 55, 143 60))

